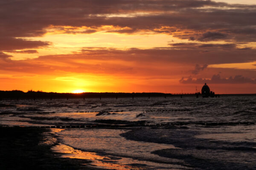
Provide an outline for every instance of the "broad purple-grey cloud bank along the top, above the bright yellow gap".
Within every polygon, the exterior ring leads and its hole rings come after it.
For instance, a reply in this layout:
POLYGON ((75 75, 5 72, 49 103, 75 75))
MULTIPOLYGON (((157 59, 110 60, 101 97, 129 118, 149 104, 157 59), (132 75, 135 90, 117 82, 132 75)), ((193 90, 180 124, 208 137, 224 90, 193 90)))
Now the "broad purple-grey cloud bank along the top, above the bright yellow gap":
POLYGON ((107 25, 129 28, 112 30, 120 34, 153 31, 203 42, 256 41, 256 6, 253 5, 231 5, 212 0, 8 0, 1 1, 0 6, 3 16, 0 18, 0 37, 13 42, 6 44, 5 50, 47 45, 48 42, 16 37, 42 36, 48 26, 91 28, 79 32, 81 34, 94 33, 97 28, 107 25))

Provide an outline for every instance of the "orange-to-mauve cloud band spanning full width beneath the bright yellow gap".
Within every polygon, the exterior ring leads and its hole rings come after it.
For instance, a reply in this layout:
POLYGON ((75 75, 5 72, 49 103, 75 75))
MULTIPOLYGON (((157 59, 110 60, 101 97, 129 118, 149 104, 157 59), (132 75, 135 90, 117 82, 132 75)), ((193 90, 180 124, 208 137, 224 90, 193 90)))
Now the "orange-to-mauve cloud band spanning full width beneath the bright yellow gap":
POLYGON ((158 76, 180 75, 187 70, 187 74, 192 72, 196 75, 210 64, 248 62, 256 57, 256 50, 234 48, 227 51, 217 47, 214 51, 203 53, 200 47, 192 47, 194 48, 183 45, 150 49, 83 48, 73 54, 47 55, 23 60, 12 60, 11 56, 1 53, 3 60, 0 61, 0 70, 38 74, 64 71, 158 76), (241 57, 242 55, 244 57, 241 57))

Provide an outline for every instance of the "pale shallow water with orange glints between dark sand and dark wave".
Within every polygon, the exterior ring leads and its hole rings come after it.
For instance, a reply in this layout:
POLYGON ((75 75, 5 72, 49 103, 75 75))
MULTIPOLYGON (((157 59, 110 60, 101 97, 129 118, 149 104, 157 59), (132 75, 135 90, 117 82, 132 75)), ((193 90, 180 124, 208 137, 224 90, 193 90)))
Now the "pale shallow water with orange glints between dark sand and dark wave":
POLYGON ((94 160, 94 165, 113 169, 188 169, 180 165, 180 160, 151 154, 158 148, 175 148, 172 144, 149 145, 148 142, 126 140, 119 135, 126 131, 128 130, 62 130, 58 133, 61 144, 53 150, 71 153, 63 157, 94 160))

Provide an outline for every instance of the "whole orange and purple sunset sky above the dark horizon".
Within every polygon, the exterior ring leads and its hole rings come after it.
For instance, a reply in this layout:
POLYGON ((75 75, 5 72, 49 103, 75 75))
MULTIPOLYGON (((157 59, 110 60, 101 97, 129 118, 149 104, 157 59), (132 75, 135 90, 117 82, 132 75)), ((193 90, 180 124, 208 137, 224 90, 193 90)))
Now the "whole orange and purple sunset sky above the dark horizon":
POLYGON ((0 0, 0 90, 256 93, 256 0, 0 0))

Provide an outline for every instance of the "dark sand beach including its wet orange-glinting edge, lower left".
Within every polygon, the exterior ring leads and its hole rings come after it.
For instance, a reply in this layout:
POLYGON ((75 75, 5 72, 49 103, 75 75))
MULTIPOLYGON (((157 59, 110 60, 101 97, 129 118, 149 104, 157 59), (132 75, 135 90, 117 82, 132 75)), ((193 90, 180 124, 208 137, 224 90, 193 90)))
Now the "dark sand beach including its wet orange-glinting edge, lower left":
MULTIPOLYGON (((59 129, 0 126, 0 169, 3 170, 145 170, 164 161, 140 160, 135 157, 103 154, 70 147, 55 135, 59 129), (135 158, 136 159, 136 158, 135 158), (120 161, 119 161, 120 160, 120 161)), ((173 163, 172 163, 173 164, 173 163)), ((179 164, 173 164, 180 166, 179 164)))

